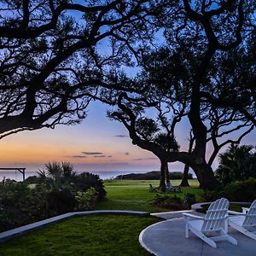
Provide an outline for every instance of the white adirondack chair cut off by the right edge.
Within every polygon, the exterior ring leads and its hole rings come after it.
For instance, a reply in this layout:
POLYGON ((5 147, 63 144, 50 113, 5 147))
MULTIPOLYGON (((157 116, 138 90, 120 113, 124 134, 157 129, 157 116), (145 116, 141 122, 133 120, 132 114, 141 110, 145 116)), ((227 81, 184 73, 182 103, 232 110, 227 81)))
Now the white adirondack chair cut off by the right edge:
POLYGON ((253 230, 256 227, 256 200, 250 208, 243 207, 242 212, 229 211, 229 213, 236 214, 229 217, 230 226, 256 240, 256 230, 253 230))

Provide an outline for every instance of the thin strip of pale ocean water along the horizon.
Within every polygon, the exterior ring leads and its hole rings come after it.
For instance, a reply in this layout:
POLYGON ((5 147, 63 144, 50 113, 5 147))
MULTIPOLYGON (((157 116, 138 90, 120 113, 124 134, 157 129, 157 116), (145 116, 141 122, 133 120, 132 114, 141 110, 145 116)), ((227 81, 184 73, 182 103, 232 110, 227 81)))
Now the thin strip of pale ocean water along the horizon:
MULTIPOLYGON (((82 171, 77 171, 77 173, 81 173, 82 171)), ((84 172, 84 171, 83 171, 84 172)), ((117 177, 119 175, 125 175, 125 174, 129 174, 129 173, 143 173, 143 172, 139 172, 139 171, 92 171, 90 173, 94 173, 99 175, 100 178, 102 179, 112 179, 114 177, 117 177)), ((37 175, 37 172, 32 172, 32 171, 27 171, 25 174, 25 177, 29 177, 29 176, 34 176, 37 175)), ((0 181, 3 180, 3 177, 5 178, 10 178, 10 179, 15 179, 16 181, 22 181, 22 174, 18 171, 2 171, 0 170, 0 181)))

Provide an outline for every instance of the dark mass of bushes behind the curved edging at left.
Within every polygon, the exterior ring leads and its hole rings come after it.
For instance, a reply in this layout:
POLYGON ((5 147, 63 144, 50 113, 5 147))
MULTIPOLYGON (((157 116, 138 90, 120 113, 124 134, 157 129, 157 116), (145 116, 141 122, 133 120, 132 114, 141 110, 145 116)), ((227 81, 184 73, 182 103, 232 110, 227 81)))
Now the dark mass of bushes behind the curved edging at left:
POLYGON ((65 212, 94 209, 106 195, 98 175, 76 175, 68 163, 48 164, 38 178, 0 183, 0 232, 65 212), (36 186, 29 186, 37 180, 36 186))

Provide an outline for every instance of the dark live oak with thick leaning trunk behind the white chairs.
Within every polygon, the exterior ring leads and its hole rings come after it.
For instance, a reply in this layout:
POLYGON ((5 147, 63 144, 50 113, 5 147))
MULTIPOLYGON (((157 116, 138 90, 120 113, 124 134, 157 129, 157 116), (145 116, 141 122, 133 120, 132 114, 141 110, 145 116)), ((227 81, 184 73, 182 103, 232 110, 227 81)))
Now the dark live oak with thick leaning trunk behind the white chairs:
POLYGON ((119 109, 112 113, 125 125, 133 144, 168 162, 187 164, 203 189, 220 187, 212 172, 219 150, 240 143, 255 128, 253 6, 253 1, 242 0, 171 3, 158 20, 166 45, 143 56, 137 82, 147 84, 148 90, 139 96, 120 94, 119 109), (154 102, 160 102, 160 108, 154 102), (146 106, 157 110, 151 119, 161 129, 166 129, 166 120, 167 129, 175 127, 172 136, 182 119, 189 120, 195 140, 191 152, 166 152, 142 137, 137 120, 148 118, 146 106), (207 159, 209 143, 213 149, 207 159))

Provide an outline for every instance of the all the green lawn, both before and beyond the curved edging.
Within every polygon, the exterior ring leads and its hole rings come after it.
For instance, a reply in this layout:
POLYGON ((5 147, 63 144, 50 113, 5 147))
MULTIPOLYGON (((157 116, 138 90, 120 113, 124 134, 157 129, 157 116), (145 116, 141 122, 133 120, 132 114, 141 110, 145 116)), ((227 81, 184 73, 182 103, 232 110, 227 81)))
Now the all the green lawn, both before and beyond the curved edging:
MULTIPOLYGON (((149 192, 149 183, 157 187, 159 181, 108 181, 105 183, 108 199, 96 209, 167 211, 150 205, 156 193, 149 192)), ((172 183, 178 185, 180 181, 172 183)), ((199 196, 202 190, 198 189, 197 180, 189 183, 190 188, 182 189, 182 193, 175 195, 183 197, 185 193, 192 193, 199 196)), ((71 218, 0 244, 0 255, 150 255, 139 245, 138 236, 145 227, 159 220, 130 215, 71 218)))

